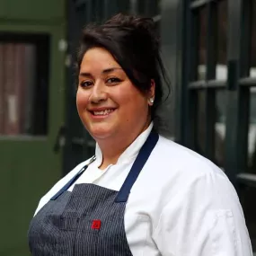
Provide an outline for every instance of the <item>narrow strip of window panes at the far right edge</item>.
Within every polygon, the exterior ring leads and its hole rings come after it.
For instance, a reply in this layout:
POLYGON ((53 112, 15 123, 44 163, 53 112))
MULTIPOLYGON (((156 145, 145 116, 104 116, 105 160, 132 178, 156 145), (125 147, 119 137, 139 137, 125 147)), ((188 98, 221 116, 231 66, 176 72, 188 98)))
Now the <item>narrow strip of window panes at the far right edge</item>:
POLYGON ((243 96, 243 129, 247 134, 248 148, 244 163, 245 170, 256 174, 256 2, 255 0, 243 3, 242 12, 242 45, 240 87, 243 96), (254 74, 255 73, 255 74, 254 74), (247 168, 246 168, 247 166, 247 168))

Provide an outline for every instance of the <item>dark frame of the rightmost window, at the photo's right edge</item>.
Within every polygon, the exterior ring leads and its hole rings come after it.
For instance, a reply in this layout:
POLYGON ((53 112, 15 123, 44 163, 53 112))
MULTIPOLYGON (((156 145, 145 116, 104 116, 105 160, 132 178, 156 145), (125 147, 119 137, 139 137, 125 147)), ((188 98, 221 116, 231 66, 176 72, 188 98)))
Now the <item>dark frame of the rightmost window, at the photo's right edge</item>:
MULTIPOLYGON (((242 0, 241 0, 242 1, 242 0)), ((256 86, 256 79, 250 77, 250 56, 251 56, 251 36, 252 36, 252 1, 239 2, 240 6, 236 5, 236 11, 240 7, 241 15, 241 40, 239 49, 239 76, 237 81, 237 108, 238 108, 238 126, 240 129, 237 131, 237 169, 236 178, 239 184, 243 186, 256 187, 256 175, 246 173, 248 170, 248 130, 250 122, 250 88, 256 86)), ((255 4, 255 3, 254 3, 255 4)))

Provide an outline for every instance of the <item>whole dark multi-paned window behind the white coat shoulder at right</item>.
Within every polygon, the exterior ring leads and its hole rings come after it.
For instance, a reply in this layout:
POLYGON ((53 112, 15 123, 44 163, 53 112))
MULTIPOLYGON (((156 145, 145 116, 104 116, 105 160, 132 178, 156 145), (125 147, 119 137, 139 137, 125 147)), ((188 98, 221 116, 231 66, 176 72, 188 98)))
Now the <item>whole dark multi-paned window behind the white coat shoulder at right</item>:
POLYGON ((256 1, 181 2, 181 143, 224 167, 255 252, 256 1))

